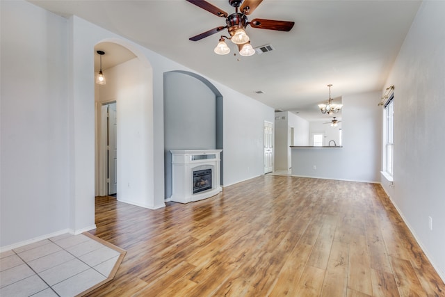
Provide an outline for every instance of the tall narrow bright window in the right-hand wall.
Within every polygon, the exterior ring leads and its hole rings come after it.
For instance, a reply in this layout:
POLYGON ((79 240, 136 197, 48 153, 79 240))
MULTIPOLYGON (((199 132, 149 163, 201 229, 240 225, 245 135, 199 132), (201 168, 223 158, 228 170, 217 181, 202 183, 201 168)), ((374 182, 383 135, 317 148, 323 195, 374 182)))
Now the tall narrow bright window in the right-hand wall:
POLYGON ((385 103, 385 171, 393 175, 394 165, 394 95, 385 103))

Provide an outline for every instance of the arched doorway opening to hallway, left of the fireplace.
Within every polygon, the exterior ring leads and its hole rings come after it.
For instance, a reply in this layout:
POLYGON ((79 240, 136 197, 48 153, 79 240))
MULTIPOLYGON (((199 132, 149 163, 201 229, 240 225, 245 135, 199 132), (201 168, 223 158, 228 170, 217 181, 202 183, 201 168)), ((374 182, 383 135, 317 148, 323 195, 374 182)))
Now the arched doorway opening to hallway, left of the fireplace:
MULTIPOLYGON (((153 178, 153 79, 147 58, 122 40, 103 40, 105 85, 95 85, 95 185, 96 195, 108 194, 108 152, 106 112, 103 106, 116 106, 116 179, 119 201, 146 208, 154 207, 153 178)), ((99 63, 95 63, 95 73, 99 63)))

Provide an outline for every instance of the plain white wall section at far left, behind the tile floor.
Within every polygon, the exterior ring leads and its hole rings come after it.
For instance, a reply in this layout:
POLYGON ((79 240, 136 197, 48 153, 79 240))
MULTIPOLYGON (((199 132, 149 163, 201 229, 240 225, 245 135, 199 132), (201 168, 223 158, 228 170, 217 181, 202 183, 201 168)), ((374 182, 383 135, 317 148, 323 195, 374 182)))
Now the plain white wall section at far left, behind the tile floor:
POLYGON ((67 20, 21 1, 0 7, 0 246, 9 246, 73 227, 67 20))

